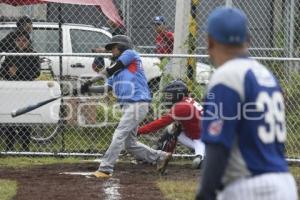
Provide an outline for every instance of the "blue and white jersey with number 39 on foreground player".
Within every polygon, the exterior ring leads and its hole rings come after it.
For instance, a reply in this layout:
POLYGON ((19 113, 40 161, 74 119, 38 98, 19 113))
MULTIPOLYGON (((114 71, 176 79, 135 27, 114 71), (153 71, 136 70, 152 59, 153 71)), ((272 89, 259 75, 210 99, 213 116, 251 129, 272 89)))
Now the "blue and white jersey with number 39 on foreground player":
POLYGON ((248 58, 226 62, 207 88, 203 141, 230 150, 223 183, 268 172, 286 172, 284 101, 277 79, 248 58))

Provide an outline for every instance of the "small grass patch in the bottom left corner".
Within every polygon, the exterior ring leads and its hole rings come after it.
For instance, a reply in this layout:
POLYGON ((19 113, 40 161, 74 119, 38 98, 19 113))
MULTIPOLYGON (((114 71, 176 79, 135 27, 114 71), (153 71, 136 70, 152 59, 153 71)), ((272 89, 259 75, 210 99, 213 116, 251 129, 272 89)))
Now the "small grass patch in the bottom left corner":
POLYGON ((17 182, 0 179, 0 200, 10 200, 17 193, 17 182))

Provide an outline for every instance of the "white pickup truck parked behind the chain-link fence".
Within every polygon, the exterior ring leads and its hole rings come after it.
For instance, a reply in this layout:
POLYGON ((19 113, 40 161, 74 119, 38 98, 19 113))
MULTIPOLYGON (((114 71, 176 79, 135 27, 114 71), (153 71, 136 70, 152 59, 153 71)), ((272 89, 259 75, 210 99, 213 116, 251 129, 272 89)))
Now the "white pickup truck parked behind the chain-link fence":
MULTIPOLYGON (((103 47, 108 43, 112 35, 105 29, 96 28, 82 24, 62 24, 62 51, 63 53, 91 53, 92 48, 103 47)), ((0 23, 0 39, 5 37, 10 31, 16 29, 16 24, 12 22, 0 23)), ((31 34, 34 49, 39 53, 59 53, 59 25, 58 23, 34 22, 31 34)), ((42 68, 51 68, 53 74, 58 76, 59 57, 47 57, 49 62, 44 63, 42 68)), ((96 72, 92 68, 93 57, 63 57, 62 75, 64 77, 95 76, 96 72)), ((105 65, 110 61, 105 58, 105 65)), ((158 83, 161 71, 157 63, 158 58, 142 58, 145 75, 148 83, 158 83)), ((208 81, 211 68, 208 65, 197 63, 197 81, 205 84, 208 81)))

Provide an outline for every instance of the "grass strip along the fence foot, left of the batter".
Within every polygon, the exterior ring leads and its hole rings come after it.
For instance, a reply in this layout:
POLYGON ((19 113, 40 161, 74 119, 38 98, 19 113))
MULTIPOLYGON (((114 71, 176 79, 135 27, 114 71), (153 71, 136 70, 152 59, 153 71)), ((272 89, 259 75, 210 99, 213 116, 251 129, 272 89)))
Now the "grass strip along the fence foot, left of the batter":
POLYGON ((0 158, 0 167, 11 167, 11 168, 25 168, 39 165, 51 165, 58 163, 78 163, 81 159, 79 158, 55 158, 55 157, 2 157, 0 158))

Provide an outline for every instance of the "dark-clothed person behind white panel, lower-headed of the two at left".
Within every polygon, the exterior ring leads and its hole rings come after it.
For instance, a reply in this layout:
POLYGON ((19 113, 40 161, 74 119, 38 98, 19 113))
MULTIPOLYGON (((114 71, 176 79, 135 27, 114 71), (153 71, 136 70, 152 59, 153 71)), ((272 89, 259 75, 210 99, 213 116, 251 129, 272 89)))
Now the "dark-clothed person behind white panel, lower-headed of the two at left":
MULTIPOLYGON (((22 30, 15 32, 12 44, 12 53, 33 52, 30 47, 29 35, 22 30)), ((40 75, 40 62, 38 56, 7 56, 0 70, 2 77, 9 81, 32 81, 40 75)), ((3 127, 2 131, 7 136, 6 151, 12 151, 17 137, 21 138, 22 151, 29 151, 30 133, 29 126, 3 127)))

